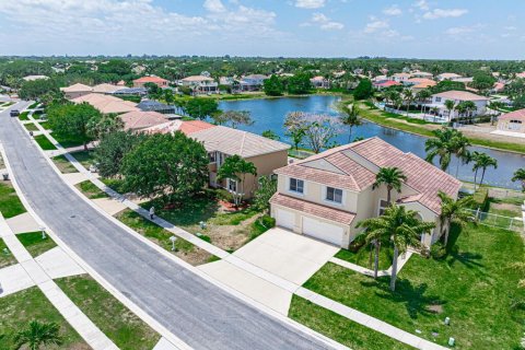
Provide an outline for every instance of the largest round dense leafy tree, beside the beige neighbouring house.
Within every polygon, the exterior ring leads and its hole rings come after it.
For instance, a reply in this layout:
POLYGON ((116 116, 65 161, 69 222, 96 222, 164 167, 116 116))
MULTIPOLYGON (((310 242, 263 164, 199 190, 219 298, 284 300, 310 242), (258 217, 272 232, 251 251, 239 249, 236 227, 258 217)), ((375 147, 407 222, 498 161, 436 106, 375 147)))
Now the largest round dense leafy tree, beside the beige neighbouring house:
POLYGON ((125 153, 125 188, 139 197, 159 197, 164 203, 184 205, 208 180, 208 153, 202 143, 174 135, 152 135, 125 153))

